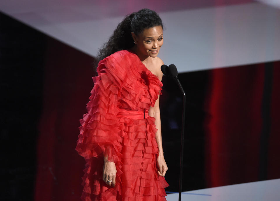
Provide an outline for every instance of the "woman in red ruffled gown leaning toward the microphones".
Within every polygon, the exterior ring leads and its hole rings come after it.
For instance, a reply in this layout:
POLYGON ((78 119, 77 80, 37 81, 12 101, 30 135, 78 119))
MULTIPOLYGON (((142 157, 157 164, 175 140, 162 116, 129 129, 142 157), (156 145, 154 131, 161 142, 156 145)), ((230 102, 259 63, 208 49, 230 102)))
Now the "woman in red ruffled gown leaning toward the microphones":
POLYGON ((99 52, 76 147, 86 160, 82 200, 166 200, 162 28, 155 11, 142 9, 124 18, 99 52))

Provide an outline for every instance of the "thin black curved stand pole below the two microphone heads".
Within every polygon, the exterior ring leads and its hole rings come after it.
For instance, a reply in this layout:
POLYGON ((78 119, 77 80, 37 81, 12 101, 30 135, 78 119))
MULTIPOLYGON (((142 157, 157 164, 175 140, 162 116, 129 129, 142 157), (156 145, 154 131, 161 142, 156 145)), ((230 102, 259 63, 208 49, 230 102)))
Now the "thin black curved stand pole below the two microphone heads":
POLYGON ((182 131, 181 131, 181 154, 180 154, 180 176, 179 176, 179 201, 181 201, 182 194, 182 180, 183 180, 183 153, 184 153, 184 135, 185 135, 185 105, 186 94, 177 76, 174 77, 183 94, 183 112, 182 112, 182 131))

